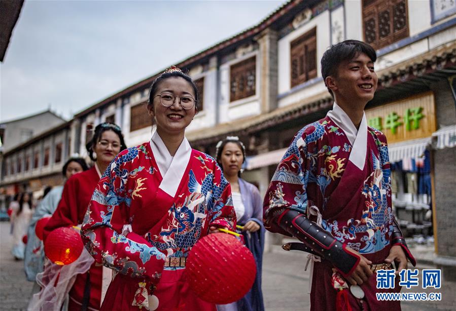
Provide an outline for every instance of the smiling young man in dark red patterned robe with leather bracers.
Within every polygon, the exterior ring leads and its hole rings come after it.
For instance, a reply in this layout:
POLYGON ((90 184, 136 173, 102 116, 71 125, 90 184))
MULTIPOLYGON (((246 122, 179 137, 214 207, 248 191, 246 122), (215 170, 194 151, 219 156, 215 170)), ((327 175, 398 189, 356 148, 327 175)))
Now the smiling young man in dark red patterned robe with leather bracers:
POLYGON ((400 309, 377 301, 376 271, 415 264, 391 207, 386 137, 367 126, 374 97, 375 50, 360 41, 332 46, 322 75, 333 110, 302 128, 275 171, 264 201, 264 224, 313 254, 311 310, 400 309))

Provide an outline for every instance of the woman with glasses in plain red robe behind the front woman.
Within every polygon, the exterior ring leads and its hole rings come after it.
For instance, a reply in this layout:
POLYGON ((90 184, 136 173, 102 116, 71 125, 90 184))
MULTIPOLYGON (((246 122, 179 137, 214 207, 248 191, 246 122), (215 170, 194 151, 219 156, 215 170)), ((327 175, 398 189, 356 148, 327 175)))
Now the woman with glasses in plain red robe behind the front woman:
MULTIPOLYGON (((66 181, 62 199, 44 229, 45 244, 52 230, 82 224, 98 180, 116 155, 126 149, 120 127, 113 123, 97 125, 92 139, 86 144, 86 149, 95 165, 66 181)), ((87 273, 77 275, 69 291, 68 310, 98 310, 102 301, 102 291, 108 287, 111 279, 111 270, 103 270, 101 265, 93 263, 87 273)))

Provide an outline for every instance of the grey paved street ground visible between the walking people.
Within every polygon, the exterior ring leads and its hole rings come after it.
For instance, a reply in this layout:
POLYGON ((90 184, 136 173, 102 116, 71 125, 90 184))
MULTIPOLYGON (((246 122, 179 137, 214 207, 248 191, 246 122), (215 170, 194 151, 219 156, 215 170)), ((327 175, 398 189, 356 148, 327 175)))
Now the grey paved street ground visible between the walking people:
MULTIPOLYGON (((15 261, 11 255, 10 223, 0 222, 0 309, 25 310, 32 294, 33 284, 25 280, 23 261, 15 261)), ((308 310, 309 274, 304 271, 307 257, 301 252, 286 252, 278 246, 264 255, 263 297, 268 311, 308 310)), ((418 269, 435 268, 418 264, 418 269)), ((442 281, 442 288, 422 289, 412 287, 403 292, 438 292, 442 301, 402 302, 404 311, 453 310, 456 285, 442 281)), ((324 297, 322 297, 324 299, 324 297)))

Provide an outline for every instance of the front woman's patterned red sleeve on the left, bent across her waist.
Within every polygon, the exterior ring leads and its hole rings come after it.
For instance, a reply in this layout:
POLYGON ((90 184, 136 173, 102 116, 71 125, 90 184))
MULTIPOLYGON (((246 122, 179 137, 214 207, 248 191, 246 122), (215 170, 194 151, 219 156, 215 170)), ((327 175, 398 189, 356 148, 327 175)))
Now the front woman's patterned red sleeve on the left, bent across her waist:
POLYGON ((166 256, 143 237, 124 231, 129 224, 127 189, 130 162, 122 163, 128 149, 118 155, 98 182, 84 217, 81 236, 98 263, 131 277, 160 280, 166 256))

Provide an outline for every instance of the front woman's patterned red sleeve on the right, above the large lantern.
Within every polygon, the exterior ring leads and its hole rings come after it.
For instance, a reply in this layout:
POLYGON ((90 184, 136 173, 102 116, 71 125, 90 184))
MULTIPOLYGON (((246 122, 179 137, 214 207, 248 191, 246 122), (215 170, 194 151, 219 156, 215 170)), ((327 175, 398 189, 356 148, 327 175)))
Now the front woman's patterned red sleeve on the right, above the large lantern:
POLYGON ((209 208, 209 227, 226 227, 230 231, 234 231, 236 227, 236 212, 233 207, 231 198, 231 186, 223 176, 219 165, 214 161, 214 178, 212 185, 212 202, 209 208))

